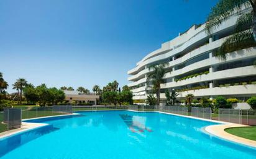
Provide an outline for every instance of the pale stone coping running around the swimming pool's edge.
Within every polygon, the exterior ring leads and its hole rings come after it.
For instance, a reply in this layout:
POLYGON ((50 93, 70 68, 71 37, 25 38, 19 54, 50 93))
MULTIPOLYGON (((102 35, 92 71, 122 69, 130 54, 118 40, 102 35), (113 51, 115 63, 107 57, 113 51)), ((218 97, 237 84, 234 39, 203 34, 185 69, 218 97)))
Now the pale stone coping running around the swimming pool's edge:
MULTIPOLYGON (((209 135, 214 135, 216 137, 219 137, 221 139, 226 139, 228 141, 234 142, 235 144, 242 144, 245 146, 253 147, 256 148, 256 141, 254 140, 249 140, 245 139, 242 137, 238 137, 236 135, 229 134, 228 132, 224 131, 225 129, 232 128, 232 127, 250 127, 247 125, 242 125, 242 124, 234 124, 231 122, 224 122, 224 121, 214 121, 211 119, 204 119, 204 118, 197 118, 194 116, 185 116, 181 114, 173 114, 173 113, 167 113, 167 112, 162 112, 162 111, 135 111, 135 110, 84 110, 84 111, 133 111, 133 112, 152 112, 152 113, 162 113, 162 114, 171 114, 173 116, 181 116, 184 118, 190 118, 190 119, 198 119, 201 121, 209 121, 209 122, 215 122, 217 125, 211 125, 211 126, 206 126, 204 127, 204 133, 208 133, 209 135)), ((83 111, 75 111, 75 112, 83 112, 83 111)), ((32 129, 37 129, 39 127, 47 126, 48 124, 46 123, 38 123, 38 122, 25 122, 29 120, 34 120, 34 119, 45 119, 45 118, 57 118, 60 116, 74 116, 74 115, 79 115, 79 113, 72 113, 72 114, 62 114, 62 115, 57 115, 57 116, 43 116, 39 118, 30 118, 30 119, 22 119, 22 125, 21 128, 18 129, 13 129, 10 131, 5 131, 0 133, 0 140, 4 139, 6 137, 11 137, 12 135, 20 134, 22 132, 30 131, 32 129)))

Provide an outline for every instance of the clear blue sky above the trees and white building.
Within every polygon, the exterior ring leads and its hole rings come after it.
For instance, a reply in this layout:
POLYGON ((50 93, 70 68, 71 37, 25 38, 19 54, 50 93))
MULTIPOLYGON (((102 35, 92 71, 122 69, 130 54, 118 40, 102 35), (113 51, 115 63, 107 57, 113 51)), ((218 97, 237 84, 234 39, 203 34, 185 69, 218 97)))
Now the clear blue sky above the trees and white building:
POLYGON ((203 24, 217 0, 2 0, 0 72, 12 84, 91 90, 117 80, 161 44, 203 24))

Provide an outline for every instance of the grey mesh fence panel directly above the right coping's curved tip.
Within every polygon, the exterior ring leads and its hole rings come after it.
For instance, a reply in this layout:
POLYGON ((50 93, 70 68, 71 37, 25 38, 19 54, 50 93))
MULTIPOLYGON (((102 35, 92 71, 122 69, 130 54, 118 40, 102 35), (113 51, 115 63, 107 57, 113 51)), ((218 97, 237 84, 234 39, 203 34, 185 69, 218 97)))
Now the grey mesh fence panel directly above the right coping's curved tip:
POLYGON ((204 119, 211 119, 211 108, 192 107, 191 116, 204 119))

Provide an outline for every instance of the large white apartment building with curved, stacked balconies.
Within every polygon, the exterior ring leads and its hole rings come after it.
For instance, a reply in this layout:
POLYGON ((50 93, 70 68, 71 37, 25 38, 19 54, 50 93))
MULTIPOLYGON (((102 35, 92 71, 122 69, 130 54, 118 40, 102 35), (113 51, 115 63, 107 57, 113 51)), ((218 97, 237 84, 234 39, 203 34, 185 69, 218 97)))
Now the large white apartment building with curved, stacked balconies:
POLYGON ((152 91, 146 87, 149 67, 163 62, 167 62, 168 66, 165 67, 165 84, 161 85, 161 103, 165 103, 166 89, 175 89, 180 99, 189 93, 194 98, 221 95, 240 100, 256 95, 256 67, 253 65, 256 47, 229 53, 226 61, 214 56, 225 38, 234 32, 237 17, 234 14, 225 20, 213 30, 212 36, 206 33, 205 24, 193 25, 137 62, 136 67, 127 72, 134 100, 147 98, 147 93, 152 91))

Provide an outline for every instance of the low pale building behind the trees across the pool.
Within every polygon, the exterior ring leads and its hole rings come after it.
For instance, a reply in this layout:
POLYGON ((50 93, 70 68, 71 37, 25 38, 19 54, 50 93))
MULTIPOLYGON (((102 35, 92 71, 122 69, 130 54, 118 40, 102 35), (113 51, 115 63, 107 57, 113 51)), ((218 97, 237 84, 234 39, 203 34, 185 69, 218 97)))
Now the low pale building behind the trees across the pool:
POLYGON ((97 105, 97 100, 99 99, 99 95, 95 95, 95 93, 80 94, 75 90, 64 90, 64 93, 65 101, 68 103, 97 105))

